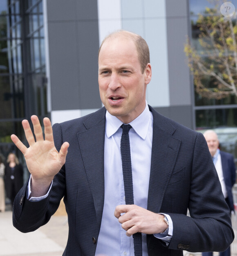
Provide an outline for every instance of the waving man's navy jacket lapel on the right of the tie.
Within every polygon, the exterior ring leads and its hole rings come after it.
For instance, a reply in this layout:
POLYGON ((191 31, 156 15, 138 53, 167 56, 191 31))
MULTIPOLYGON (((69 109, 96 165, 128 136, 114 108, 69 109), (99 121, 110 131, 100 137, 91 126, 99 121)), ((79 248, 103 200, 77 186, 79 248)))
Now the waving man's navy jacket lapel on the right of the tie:
POLYGON ((175 128, 171 124, 168 126, 157 112, 152 110, 152 113, 153 139, 148 210, 159 213, 181 142, 172 136, 175 128))

